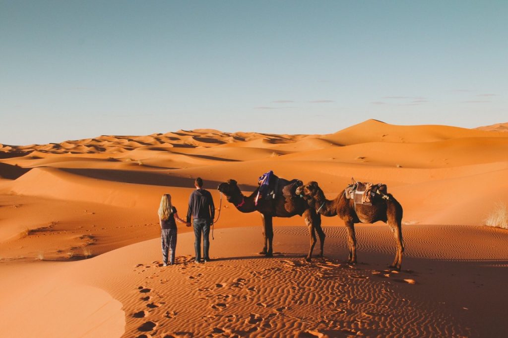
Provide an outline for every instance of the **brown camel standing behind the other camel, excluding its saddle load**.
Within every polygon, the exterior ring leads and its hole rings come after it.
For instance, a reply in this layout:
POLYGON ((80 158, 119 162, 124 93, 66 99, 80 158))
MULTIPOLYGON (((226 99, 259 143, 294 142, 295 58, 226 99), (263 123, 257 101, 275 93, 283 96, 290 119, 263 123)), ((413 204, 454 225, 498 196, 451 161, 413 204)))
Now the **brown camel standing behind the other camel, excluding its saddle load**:
POLYGON ((299 186, 296 193, 302 195, 308 205, 317 213, 327 217, 339 215, 344 221, 348 236, 347 246, 350 251, 347 261, 351 264, 356 263, 355 223, 373 223, 378 220, 388 223, 397 242, 397 252, 390 268, 400 271, 402 252, 404 252, 401 228, 402 206, 391 194, 386 194, 388 197, 386 199, 373 198, 372 205, 357 204, 355 206, 353 200, 345 197, 344 191, 335 200, 327 200, 317 182, 299 186))

